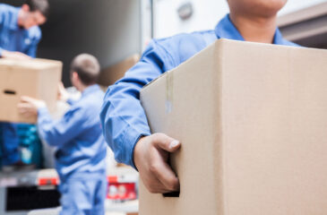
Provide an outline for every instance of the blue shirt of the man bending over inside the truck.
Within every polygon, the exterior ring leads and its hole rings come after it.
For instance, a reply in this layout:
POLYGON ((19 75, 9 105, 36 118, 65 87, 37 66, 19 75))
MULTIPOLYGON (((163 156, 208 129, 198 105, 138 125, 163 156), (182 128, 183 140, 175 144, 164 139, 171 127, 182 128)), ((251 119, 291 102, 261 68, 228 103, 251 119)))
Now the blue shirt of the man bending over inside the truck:
POLYGON ((20 7, 0 4, 0 56, 3 50, 18 51, 35 57, 42 37, 39 26, 25 30, 18 26, 20 7))

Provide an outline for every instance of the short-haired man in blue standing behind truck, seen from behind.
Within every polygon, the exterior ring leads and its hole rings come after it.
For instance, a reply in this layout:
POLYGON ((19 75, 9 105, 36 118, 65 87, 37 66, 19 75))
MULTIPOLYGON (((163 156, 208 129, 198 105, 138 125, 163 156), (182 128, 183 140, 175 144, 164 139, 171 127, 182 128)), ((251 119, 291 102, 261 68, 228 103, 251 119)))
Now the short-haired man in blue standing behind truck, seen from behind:
POLYGON ((104 93, 96 84, 99 62, 94 56, 76 56, 71 64, 71 81, 82 98, 62 99, 72 106, 60 120, 53 120, 42 100, 22 97, 19 110, 25 116, 38 116, 40 137, 56 147, 56 170, 62 193, 61 214, 104 214, 107 193, 106 153, 99 121, 104 93))

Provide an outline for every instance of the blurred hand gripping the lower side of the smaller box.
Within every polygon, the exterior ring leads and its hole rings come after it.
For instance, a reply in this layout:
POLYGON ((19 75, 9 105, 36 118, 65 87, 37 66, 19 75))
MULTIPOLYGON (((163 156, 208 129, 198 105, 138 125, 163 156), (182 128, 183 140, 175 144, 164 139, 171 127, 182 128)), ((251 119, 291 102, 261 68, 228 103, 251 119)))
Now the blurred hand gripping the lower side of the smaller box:
POLYGON ((17 105, 18 111, 22 116, 38 116, 38 109, 47 107, 46 102, 30 97, 22 97, 21 102, 17 105))

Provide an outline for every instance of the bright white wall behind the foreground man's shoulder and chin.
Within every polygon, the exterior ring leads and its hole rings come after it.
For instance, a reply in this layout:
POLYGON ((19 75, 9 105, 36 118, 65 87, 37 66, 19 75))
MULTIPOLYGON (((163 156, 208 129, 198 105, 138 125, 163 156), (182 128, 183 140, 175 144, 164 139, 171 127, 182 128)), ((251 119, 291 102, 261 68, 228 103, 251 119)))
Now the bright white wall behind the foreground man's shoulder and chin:
MULTIPOLYGON (((288 4, 280 11, 280 14, 326 1, 288 0, 288 4)), ((181 32, 211 30, 226 13, 228 13, 226 0, 155 0, 155 37, 164 38, 181 32), (187 21, 181 21, 177 8, 185 2, 191 2, 194 5, 194 15, 187 21)))

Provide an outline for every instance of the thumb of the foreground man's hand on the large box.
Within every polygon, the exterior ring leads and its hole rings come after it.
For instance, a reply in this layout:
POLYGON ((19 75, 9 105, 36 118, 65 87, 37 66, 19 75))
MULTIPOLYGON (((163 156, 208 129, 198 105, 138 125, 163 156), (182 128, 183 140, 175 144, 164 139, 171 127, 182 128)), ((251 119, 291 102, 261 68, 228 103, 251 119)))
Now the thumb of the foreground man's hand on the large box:
POLYGON ((178 150, 181 146, 181 143, 164 133, 155 133, 152 136, 153 144, 155 147, 167 150, 168 152, 174 152, 178 150))

